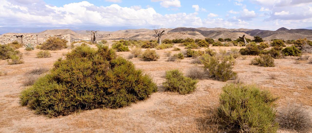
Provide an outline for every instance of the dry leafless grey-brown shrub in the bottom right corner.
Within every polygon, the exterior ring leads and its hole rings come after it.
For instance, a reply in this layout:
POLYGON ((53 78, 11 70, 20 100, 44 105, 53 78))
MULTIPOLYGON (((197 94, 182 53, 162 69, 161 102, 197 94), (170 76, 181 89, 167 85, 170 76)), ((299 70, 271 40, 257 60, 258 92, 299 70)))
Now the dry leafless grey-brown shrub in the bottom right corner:
POLYGON ((298 132, 310 131, 312 127, 309 112, 302 106, 289 105, 279 113, 277 121, 281 128, 298 132))

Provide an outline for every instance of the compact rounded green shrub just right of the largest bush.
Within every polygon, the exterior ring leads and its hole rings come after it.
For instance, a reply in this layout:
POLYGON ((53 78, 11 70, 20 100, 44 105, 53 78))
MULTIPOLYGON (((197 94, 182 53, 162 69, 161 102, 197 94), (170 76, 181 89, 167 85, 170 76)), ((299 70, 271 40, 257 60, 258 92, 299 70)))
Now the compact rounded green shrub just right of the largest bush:
POLYGON ((197 80, 183 76, 179 70, 166 71, 166 81, 163 86, 167 91, 188 94, 196 89, 197 80))

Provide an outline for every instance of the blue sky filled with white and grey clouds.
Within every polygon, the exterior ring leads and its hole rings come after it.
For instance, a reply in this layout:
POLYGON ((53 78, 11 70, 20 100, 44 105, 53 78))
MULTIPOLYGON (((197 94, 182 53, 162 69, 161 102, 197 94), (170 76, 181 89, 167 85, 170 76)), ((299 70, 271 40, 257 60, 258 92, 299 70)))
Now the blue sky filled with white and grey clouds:
POLYGON ((312 26, 312 0, 0 0, 0 27, 312 26))

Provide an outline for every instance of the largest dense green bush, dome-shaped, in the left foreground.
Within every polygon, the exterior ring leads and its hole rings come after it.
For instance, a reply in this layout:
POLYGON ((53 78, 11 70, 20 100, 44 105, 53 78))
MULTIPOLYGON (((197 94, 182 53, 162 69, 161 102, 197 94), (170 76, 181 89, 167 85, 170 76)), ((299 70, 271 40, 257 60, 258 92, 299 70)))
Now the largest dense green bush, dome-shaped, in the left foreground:
POLYGON ((49 117, 80 110, 120 108, 157 91, 152 78, 113 49, 79 46, 54 63, 50 73, 21 92, 21 103, 49 117))

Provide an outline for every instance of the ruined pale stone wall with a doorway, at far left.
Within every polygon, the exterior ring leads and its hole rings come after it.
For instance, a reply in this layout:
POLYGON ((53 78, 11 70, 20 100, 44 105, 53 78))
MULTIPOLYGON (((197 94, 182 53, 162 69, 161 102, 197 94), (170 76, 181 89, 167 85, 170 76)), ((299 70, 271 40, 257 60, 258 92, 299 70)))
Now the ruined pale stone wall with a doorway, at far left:
POLYGON ((22 44, 42 44, 46 41, 49 37, 52 36, 61 36, 61 39, 67 40, 67 45, 71 44, 71 35, 70 34, 24 34, 24 33, 9 33, 9 34, 2 34, 0 36, 0 44, 8 44, 12 43, 13 41, 17 41, 17 36, 22 36, 22 44))

